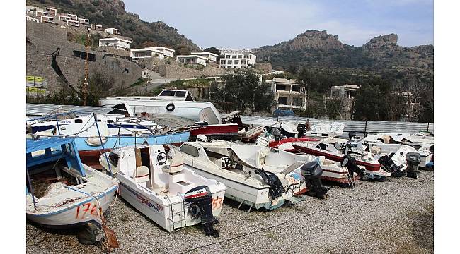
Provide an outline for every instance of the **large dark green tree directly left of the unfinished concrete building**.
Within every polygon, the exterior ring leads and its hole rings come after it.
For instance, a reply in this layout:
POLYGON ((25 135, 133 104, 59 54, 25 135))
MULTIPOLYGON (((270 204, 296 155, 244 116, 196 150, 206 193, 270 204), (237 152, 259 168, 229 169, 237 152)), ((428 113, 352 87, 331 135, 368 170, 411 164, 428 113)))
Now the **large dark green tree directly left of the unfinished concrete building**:
POLYGON ((212 101, 222 110, 270 111, 274 96, 266 83, 260 83, 253 71, 236 71, 224 75, 222 83, 212 83, 212 101))

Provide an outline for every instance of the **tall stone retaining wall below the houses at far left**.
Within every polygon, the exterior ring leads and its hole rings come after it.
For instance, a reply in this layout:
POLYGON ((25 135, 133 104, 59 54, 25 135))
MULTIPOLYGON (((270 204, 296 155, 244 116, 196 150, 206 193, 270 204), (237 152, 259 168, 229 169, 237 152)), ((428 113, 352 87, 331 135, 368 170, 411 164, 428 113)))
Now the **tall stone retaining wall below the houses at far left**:
MULTIPOLYGON (((26 75, 41 76, 47 79, 47 92, 57 90, 58 75, 51 67, 52 56, 57 47, 61 48, 57 63, 69 80, 76 87, 79 79, 84 77, 85 60, 74 56, 73 50, 85 51, 84 45, 67 41, 67 29, 45 23, 27 21, 26 25, 26 75)), ((142 75, 142 68, 136 63, 118 57, 108 56, 107 52, 90 51, 96 54, 96 61, 89 61, 90 75, 93 70, 102 71, 113 77, 115 87, 124 83, 129 86, 142 75), (126 69, 126 70, 125 70, 126 69)), ((129 55, 129 52, 127 52, 129 55)))

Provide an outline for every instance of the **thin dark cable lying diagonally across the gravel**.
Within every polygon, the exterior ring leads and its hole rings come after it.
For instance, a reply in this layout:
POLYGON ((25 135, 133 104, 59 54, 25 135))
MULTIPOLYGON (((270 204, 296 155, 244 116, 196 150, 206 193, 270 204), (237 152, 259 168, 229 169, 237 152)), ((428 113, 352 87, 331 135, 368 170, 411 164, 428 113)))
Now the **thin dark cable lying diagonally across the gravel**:
POLYGON ((265 227, 265 228, 263 228, 263 229, 258 229, 258 230, 255 230, 255 231, 248 232, 248 233, 246 233, 246 234, 241 234, 241 235, 239 235, 239 236, 234 236, 234 237, 232 237, 232 238, 228 238, 228 239, 225 239, 225 240, 223 240, 223 241, 217 241, 217 242, 214 242, 214 243, 207 243, 207 244, 202 245, 202 246, 198 246, 198 247, 195 247, 195 248, 191 248, 190 250, 184 250, 184 251, 181 252, 181 253, 190 253, 190 252, 195 251, 195 250, 198 250, 198 249, 200 249, 200 248, 205 248, 205 247, 213 246, 213 245, 215 245, 215 244, 220 244, 220 243, 226 243, 226 242, 233 241, 233 240, 236 240, 236 239, 238 239, 238 238, 241 238, 241 237, 243 237, 243 236, 248 236, 248 235, 250 235, 250 234, 257 234, 257 233, 260 233, 260 232, 263 232, 263 231, 267 231, 267 230, 269 230, 269 229, 273 229, 273 228, 275 228, 275 227, 277 227, 277 226, 281 226, 282 224, 287 224, 287 223, 289 223, 289 222, 293 222, 293 221, 295 221, 295 220, 298 220, 298 219, 301 219, 301 218, 304 218, 304 217, 309 217, 309 216, 311 216, 311 215, 318 214, 318 213, 320 213, 320 212, 327 212, 327 211, 329 211, 329 210, 333 210, 333 209, 335 209, 335 208, 337 208, 337 207, 341 207, 341 206, 343 206, 343 205, 347 205, 347 204, 350 203, 350 202, 355 202, 355 201, 363 200, 363 199, 366 199, 366 198, 378 197, 378 196, 385 195, 385 194, 388 194, 388 193, 394 193, 394 192, 397 192, 397 191, 399 191, 399 190, 401 190, 401 189, 403 189, 403 188, 407 188, 408 186, 414 186, 415 183, 418 183, 418 181, 413 182, 413 183, 408 183, 408 184, 406 184, 406 185, 404 185, 404 186, 401 186, 401 187, 399 187, 399 188, 393 188, 393 189, 391 189, 391 190, 389 190, 389 191, 381 191, 381 193, 377 193, 377 194, 374 194, 374 195, 366 195, 366 196, 362 196, 362 197, 360 197, 360 198, 354 198, 354 199, 351 199, 351 200, 342 202, 342 203, 340 203, 340 204, 338 204, 338 205, 333 205, 333 206, 331 206, 331 207, 327 207, 327 208, 324 208, 324 209, 321 209, 321 210, 317 210, 317 211, 310 212, 310 213, 307 213, 307 214, 299 215, 299 216, 294 217, 294 218, 292 218, 292 219, 288 219, 288 220, 286 220, 286 221, 284 221, 284 222, 280 222, 280 223, 275 224, 275 225, 272 225, 272 226, 267 226, 267 227, 265 227))

